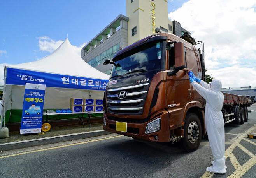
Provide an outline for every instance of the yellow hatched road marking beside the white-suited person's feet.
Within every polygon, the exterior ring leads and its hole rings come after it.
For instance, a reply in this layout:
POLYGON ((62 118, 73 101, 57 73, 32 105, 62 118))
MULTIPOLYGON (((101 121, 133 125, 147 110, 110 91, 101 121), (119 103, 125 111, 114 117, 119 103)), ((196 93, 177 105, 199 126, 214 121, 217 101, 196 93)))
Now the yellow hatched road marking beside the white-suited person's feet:
MULTIPOLYGON (((246 132, 244 132, 242 135, 240 135, 235 142, 233 142, 233 144, 231 144, 228 149, 226 149, 225 151, 225 156, 226 159, 228 157, 230 157, 230 161, 233 164, 234 168, 236 169, 235 172, 233 172, 230 176, 228 176, 229 178, 237 178, 237 177, 242 177, 249 169, 251 169, 251 167, 256 164, 256 155, 254 155, 252 152, 248 151, 244 146, 242 146, 240 144, 240 141, 242 139, 245 140, 245 136, 251 132, 251 130, 253 130, 254 128, 256 128, 256 125, 254 125, 254 127, 251 127, 249 130, 247 130, 246 132), (240 149, 242 149, 246 154, 248 154, 251 159, 249 159, 246 163, 244 163, 244 165, 240 165, 240 163, 237 161, 237 158, 234 156, 234 154, 232 153, 233 149, 235 149, 235 147, 239 147, 240 149), (237 165, 238 164, 238 165, 237 165)), ((226 134, 226 133, 225 133, 226 134)), ((245 140, 247 141, 247 139, 245 140)), ((250 142, 251 143, 251 142, 250 142)), ((254 143, 254 142, 253 142, 254 143)), ((254 143, 255 145, 255 143, 254 143)), ((201 178, 211 178, 214 175, 214 173, 210 173, 208 171, 205 171, 205 173, 201 176, 201 178)))

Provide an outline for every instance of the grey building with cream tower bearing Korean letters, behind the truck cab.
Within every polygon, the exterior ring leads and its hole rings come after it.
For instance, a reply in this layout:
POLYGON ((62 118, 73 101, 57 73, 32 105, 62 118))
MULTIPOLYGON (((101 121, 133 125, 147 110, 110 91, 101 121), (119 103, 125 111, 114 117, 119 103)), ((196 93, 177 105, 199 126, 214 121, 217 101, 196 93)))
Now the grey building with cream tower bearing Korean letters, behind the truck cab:
POLYGON ((91 39, 82 48, 81 58, 110 75, 112 65, 103 65, 103 62, 122 48, 154 34, 157 27, 161 32, 177 36, 188 32, 179 22, 168 19, 167 0, 126 0, 126 16, 118 15, 91 39))

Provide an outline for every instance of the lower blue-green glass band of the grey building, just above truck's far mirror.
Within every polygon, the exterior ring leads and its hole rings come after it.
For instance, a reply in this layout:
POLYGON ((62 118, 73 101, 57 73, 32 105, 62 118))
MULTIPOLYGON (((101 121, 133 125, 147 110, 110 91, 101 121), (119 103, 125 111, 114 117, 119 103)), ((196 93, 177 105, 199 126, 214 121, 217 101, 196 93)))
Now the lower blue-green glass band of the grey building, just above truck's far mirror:
MULTIPOLYGON (((100 55, 96 56, 95 58, 93 58, 92 60, 90 60, 88 62, 89 65, 91 65, 92 67, 95 67, 97 65, 100 65, 101 63, 105 62, 106 59, 111 59, 113 58, 113 56, 116 54, 117 51, 119 51, 120 48, 120 44, 117 43, 115 46, 112 46, 111 48, 109 48, 107 51, 104 51, 103 53, 101 53, 100 55)), ((108 71, 106 71, 108 72, 108 71)), ((105 72, 105 73, 106 73, 105 72)), ((111 72, 111 71, 110 71, 111 72)), ((109 72, 109 74, 110 74, 109 72)), ((107 73, 106 73, 107 74, 107 73)))

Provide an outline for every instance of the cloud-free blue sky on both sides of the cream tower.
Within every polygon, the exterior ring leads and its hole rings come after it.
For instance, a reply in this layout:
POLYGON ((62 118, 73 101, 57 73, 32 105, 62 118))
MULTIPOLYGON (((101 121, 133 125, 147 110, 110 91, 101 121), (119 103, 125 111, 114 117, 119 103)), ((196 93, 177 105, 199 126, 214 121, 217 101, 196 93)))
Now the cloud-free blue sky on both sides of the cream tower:
MULTIPOLYGON (((169 1, 168 12, 184 0, 169 1)), ((119 14, 125 0, 8 0, 0 5, 0 63, 31 62, 49 55, 39 48, 39 37, 67 37, 75 46, 88 42, 119 14)))

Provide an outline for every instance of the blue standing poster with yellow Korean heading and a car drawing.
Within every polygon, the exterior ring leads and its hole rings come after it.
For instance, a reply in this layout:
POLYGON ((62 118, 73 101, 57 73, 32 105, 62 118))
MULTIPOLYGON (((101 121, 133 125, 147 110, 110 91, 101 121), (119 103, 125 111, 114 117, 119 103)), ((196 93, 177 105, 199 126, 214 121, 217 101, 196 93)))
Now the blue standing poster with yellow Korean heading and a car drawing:
POLYGON ((26 83, 19 134, 41 132, 45 89, 46 85, 26 83))

